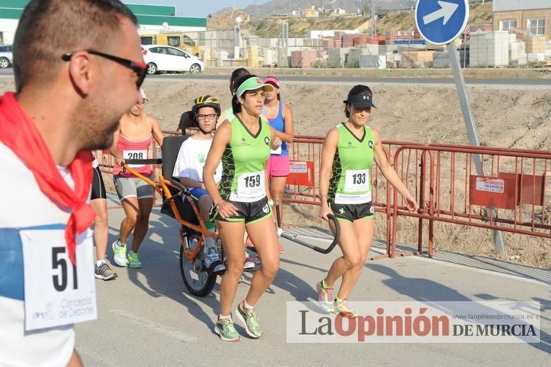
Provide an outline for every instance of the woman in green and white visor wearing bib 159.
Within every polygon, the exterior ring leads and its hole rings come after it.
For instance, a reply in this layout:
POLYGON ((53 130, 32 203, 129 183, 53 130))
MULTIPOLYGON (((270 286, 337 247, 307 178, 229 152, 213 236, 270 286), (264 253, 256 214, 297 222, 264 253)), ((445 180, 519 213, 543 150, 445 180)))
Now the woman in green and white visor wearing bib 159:
POLYGON ((270 150, 279 147, 281 139, 260 116, 264 91, 273 87, 262 84, 255 75, 238 79, 235 87, 234 117, 220 125, 203 168, 204 184, 215 204, 213 216, 227 260, 221 283, 220 314, 215 324, 215 332, 224 341, 240 340, 231 319, 231 307, 243 271, 245 228, 262 258, 262 267, 253 276, 249 292, 235 312, 250 337, 262 337, 254 305, 279 269, 278 235, 271 217, 265 168, 270 150), (214 173, 221 159, 222 179, 217 186, 214 173))

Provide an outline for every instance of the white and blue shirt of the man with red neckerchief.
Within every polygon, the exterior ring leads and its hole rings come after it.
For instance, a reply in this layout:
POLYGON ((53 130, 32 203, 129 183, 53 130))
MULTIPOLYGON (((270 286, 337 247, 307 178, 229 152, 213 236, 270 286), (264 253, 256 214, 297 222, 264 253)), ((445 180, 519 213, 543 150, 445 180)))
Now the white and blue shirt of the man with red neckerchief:
MULTIPOLYGON (((2 143, 0 171, 6 177, 0 180, 0 366, 65 366, 75 346, 73 325, 25 332, 24 260, 19 229, 64 226, 71 212, 44 196, 33 172, 2 143)), ((60 173, 72 187, 69 170, 60 168, 60 173)))

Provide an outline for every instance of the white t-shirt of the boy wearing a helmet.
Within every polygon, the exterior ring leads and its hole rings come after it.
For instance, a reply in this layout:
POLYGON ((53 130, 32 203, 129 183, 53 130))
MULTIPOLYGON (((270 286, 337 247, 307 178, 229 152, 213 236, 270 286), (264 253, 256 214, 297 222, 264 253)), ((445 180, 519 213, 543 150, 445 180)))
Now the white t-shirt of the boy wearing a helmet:
MULTIPOLYGON (((178 152, 176 164, 174 165, 174 177, 189 177, 195 181, 203 182, 203 166, 213 139, 201 140, 191 136, 184 141, 178 152)), ((215 171, 215 181, 218 183, 222 178, 222 161, 215 171)))

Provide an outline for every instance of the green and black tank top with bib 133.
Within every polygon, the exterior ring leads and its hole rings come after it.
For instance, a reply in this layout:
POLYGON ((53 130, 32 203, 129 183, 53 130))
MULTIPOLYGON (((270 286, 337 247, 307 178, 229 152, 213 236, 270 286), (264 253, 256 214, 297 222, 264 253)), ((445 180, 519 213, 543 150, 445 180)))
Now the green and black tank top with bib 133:
POLYGON ((338 145, 329 179, 327 201, 335 204, 363 204, 371 201, 370 168, 374 161, 375 136, 364 126, 357 138, 344 123, 336 126, 338 145))

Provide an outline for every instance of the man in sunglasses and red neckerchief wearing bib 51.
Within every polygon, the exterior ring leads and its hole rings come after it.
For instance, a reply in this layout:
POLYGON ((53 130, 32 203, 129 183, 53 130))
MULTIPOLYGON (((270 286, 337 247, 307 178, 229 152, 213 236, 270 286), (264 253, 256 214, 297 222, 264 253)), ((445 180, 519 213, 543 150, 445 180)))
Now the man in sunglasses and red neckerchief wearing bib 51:
POLYGON ((90 150, 141 101, 136 17, 118 0, 31 0, 0 97, 0 365, 80 366, 96 319, 90 150))

